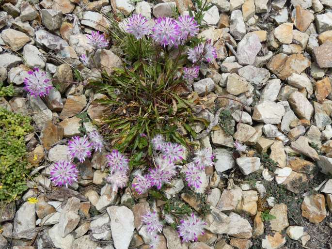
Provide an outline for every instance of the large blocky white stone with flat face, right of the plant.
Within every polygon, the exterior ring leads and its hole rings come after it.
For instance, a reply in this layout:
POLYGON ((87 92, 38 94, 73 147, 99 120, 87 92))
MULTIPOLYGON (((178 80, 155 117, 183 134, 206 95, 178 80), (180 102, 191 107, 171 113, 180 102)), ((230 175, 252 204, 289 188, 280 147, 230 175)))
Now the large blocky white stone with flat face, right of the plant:
POLYGON ((264 100, 256 104, 252 118, 265 124, 280 124, 284 114, 285 108, 282 105, 264 100))

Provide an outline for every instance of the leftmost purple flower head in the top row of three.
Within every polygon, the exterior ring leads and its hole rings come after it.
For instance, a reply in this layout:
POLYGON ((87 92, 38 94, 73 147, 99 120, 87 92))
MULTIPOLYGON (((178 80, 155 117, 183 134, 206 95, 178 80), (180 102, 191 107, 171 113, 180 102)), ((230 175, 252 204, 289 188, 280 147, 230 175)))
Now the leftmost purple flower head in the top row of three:
POLYGON ((133 14, 128 18, 128 24, 126 31, 134 35, 136 39, 142 39, 144 35, 148 35, 151 32, 148 20, 141 14, 133 14))

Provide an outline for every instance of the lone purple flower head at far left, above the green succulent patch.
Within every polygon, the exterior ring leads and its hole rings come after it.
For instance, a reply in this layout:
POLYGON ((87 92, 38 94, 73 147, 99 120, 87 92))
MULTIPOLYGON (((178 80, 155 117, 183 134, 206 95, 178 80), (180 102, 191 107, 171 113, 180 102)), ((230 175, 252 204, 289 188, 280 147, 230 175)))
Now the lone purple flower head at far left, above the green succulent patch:
POLYGON ((45 97, 53 88, 52 82, 42 70, 34 68, 28 72, 28 77, 24 78, 24 90, 34 97, 45 97))

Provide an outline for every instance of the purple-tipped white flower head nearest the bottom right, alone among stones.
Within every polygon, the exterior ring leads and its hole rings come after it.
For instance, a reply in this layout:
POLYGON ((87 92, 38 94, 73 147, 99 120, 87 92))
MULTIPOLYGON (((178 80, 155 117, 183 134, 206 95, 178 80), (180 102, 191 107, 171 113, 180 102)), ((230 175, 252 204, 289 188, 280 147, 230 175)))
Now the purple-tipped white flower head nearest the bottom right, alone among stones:
POLYGON ((191 213, 186 219, 182 219, 180 223, 177 226, 177 232, 182 237, 182 242, 196 241, 200 234, 204 234, 206 222, 196 218, 194 213, 191 213))

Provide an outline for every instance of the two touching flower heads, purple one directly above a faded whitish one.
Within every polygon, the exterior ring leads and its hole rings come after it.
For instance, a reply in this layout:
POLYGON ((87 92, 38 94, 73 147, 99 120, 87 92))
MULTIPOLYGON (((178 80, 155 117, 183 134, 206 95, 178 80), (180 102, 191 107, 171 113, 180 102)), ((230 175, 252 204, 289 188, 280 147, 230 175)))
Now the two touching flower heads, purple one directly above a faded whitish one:
POLYGON ((126 187, 129 179, 129 159, 118 150, 112 150, 110 154, 106 155, 106 158, 111 172, 106 181, 111 184, 113 191, 126 187))

